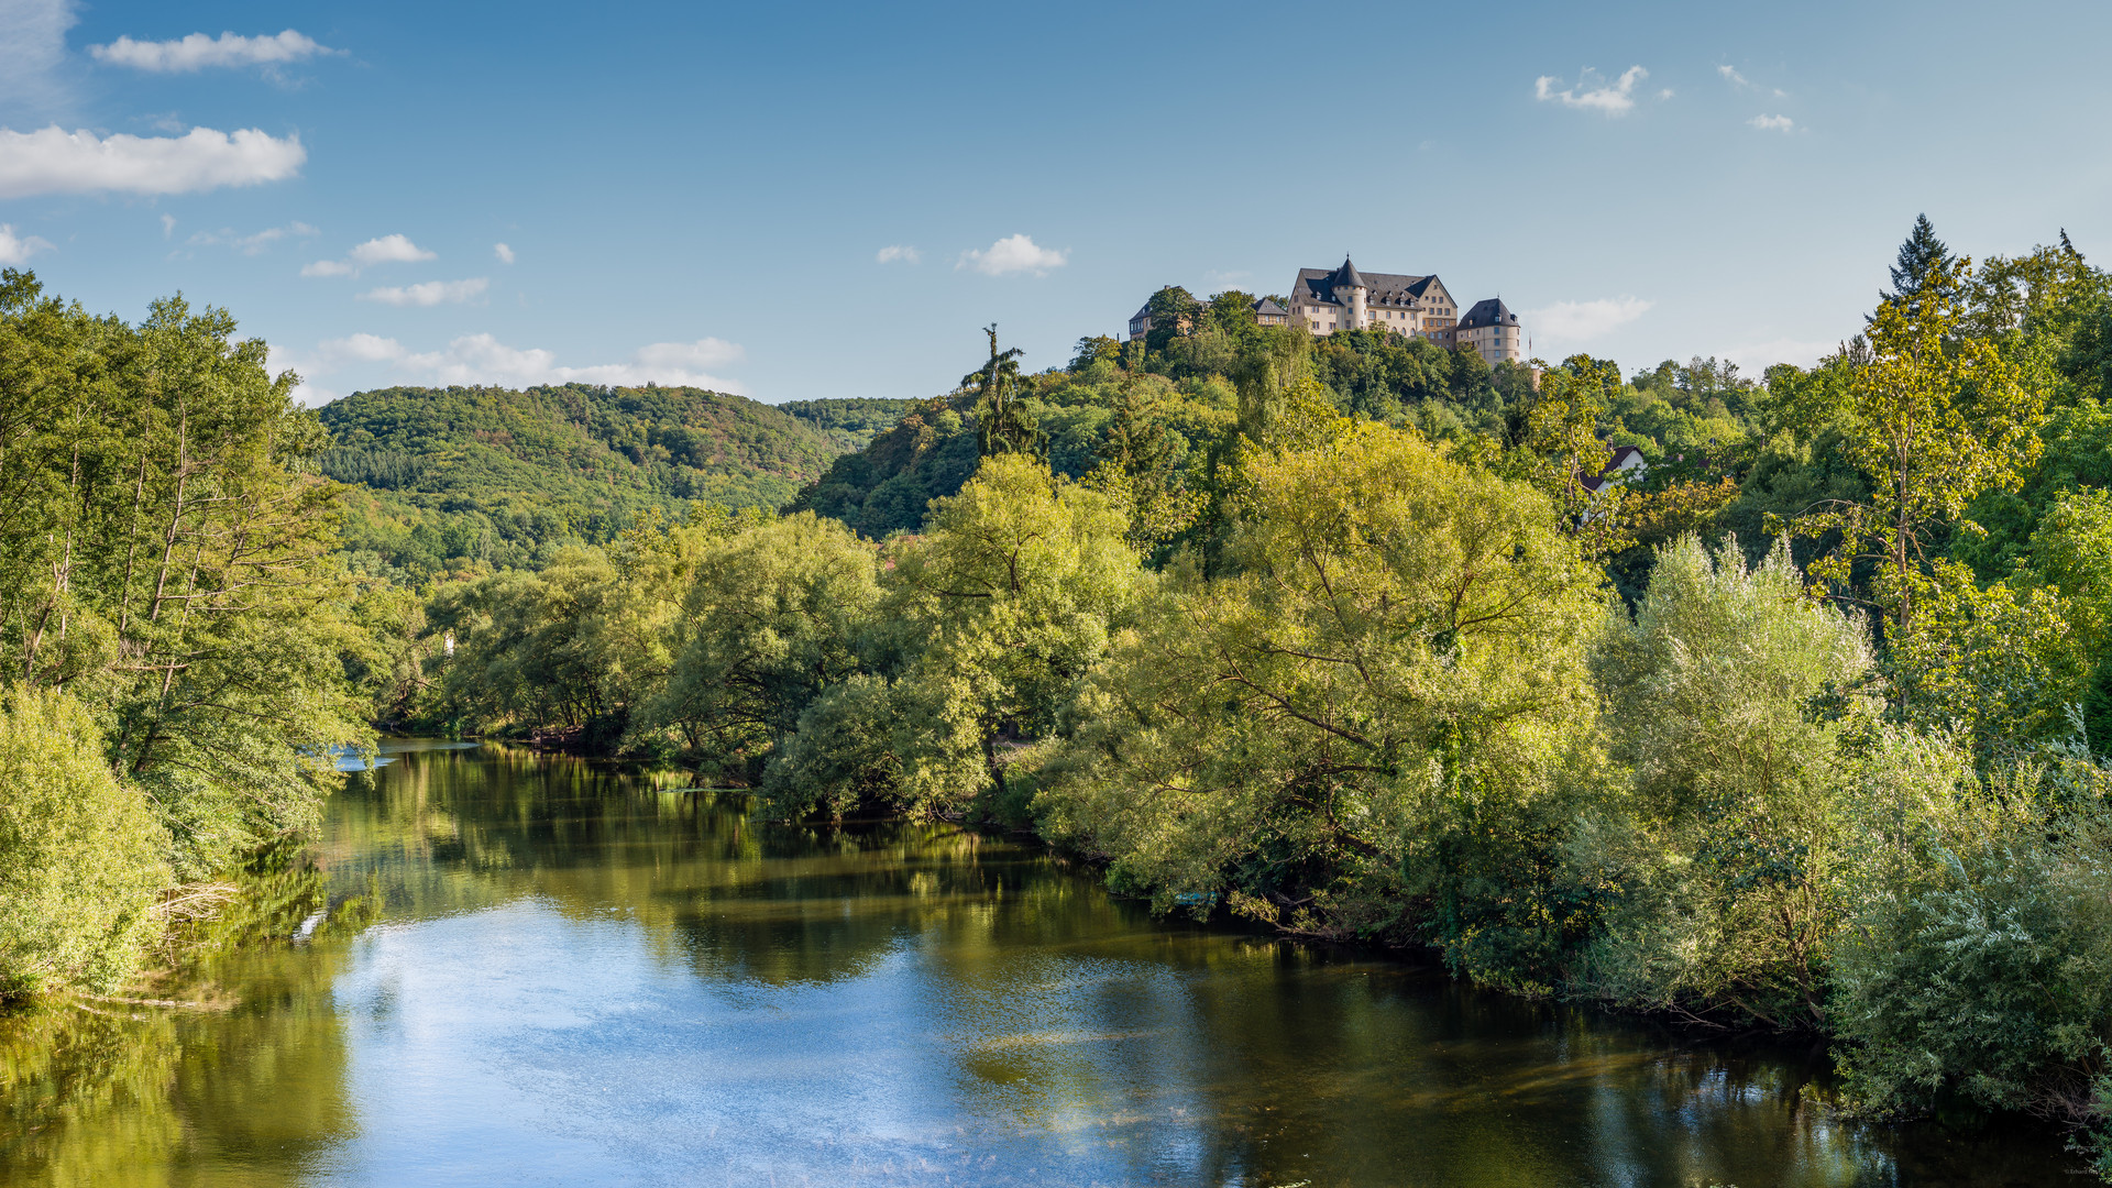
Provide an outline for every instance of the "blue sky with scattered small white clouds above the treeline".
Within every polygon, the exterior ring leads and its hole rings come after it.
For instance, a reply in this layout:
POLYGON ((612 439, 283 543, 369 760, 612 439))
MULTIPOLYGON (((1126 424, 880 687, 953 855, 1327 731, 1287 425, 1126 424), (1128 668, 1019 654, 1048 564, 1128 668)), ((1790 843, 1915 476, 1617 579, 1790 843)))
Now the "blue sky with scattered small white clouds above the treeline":
POLYGON ((1852 334, 1918 211, 1975 256, 2112 252, 2108 34, 2095 4, 0 0, 0 262, 93 311, 224 304, 310 402, 931 395, 988 321, 1054 366, 1162 283, 1284 292, 1343 252, 1500 294, 1540 355, 1757 368, 1852 334))

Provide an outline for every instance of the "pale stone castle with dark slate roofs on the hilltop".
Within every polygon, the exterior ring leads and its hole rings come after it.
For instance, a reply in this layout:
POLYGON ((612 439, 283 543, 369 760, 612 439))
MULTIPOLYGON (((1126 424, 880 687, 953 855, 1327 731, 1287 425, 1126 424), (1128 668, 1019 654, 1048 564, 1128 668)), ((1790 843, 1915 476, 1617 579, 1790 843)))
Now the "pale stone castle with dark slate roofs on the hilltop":
MULTIPOLYGON (((1500 298, 1478 300, 1466 315, 1445 281, 1404 273, 1360 273, 1345 256, 1341 268, 1299 268, 1288 309, 1261 298, 1261 326, 1303 326, 1312 334, 1337 330, 1392 330, 1428 338, 1438 347, 1474 347, 1491 366, 1525 359, 1519 315, 1500 298)), ((1187 330, 1183 326, 1183 330, 1187 330)), ((1130 338, 1151 332, 1149 304, 1130 317, 1130 338)))

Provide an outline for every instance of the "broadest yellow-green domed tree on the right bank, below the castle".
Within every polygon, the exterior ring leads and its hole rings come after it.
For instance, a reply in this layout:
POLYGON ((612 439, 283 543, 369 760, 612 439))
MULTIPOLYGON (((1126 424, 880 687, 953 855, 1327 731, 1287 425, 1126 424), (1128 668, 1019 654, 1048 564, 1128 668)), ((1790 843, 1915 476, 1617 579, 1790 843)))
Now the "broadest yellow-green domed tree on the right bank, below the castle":
POLYGON ((1544 497, 1413 433, 1255 454, 1248 490, 1238 573, 1178 575, 1117 636, 1048 759, 1045 829, 1162 905, 1428 930, 1525 981, 1497 951, 1567 920, 1487 875, 1561 816, 1540 793, 1582 698, 1588 571, 1544 497))

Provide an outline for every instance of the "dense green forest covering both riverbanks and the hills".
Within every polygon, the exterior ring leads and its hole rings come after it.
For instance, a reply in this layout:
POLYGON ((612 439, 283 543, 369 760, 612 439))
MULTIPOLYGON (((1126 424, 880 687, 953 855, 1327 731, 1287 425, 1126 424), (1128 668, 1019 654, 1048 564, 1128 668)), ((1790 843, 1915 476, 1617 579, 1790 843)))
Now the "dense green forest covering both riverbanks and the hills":
POLYGON ((315 416, 220 311, 0 302, 8 994, 116 985, 378 723, 1031 829, 1159 911, 1825 1036, 1848 1114, 2057 1116, 2112 1175, 2112 277, 2066 237, 1975 262, 1922 220, 1840 351, 1761 376, 1166 290, 1147 342, 1029 374, 991 332, 805 435, 676 389, 315 416), (376 543, 604 457, 653 495, 621 524, 376 543))

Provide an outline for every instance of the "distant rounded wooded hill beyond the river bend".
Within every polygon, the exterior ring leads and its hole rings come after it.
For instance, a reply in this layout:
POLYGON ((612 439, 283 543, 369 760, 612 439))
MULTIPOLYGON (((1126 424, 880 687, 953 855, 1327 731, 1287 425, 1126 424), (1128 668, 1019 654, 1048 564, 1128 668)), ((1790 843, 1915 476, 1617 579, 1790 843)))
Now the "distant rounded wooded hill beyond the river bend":
POLYGON ((374 573, 534 564, 691 501, 779 507, 908 402, 805 402, 803 414, 686 387, 391 387, 319 410, 321 467, 353 484, 342 541, 374 573))

